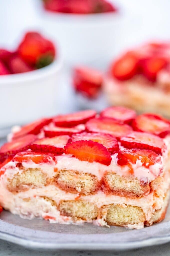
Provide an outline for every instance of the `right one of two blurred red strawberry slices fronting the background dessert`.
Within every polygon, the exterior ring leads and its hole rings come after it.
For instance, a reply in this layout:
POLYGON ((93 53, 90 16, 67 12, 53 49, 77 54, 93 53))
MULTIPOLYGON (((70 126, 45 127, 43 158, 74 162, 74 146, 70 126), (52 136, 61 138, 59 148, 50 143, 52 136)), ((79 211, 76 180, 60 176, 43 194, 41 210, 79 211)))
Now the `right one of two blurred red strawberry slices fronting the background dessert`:
POLYGON ((160 70, 165 68, 167 60, 161 57, 150 57, 140 62, 140 67, 144 76, 150 81, 156 81, 156 76, 160 70))

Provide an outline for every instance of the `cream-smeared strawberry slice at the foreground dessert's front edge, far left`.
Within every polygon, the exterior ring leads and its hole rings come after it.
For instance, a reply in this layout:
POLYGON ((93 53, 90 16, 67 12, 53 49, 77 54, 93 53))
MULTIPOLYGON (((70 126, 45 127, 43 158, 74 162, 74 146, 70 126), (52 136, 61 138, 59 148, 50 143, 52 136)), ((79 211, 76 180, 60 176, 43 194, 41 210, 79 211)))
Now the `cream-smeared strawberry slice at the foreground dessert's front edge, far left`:
POLYGON ((53 160, 54 155, 51 153, 36 153, 32 151, 20 152, 14 156, 14 161, 19 163, 32 161, 35 164, 41 164, 51 163, 53 160))

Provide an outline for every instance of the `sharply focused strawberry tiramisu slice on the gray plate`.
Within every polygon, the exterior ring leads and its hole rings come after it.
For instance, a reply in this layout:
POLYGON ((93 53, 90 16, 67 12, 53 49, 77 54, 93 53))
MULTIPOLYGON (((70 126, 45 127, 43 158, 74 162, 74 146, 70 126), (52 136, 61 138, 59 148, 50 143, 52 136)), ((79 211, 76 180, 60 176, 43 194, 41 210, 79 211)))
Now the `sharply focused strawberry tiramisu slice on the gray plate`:
POLYGON ((123 107, 15 127, 0 148, 0 204, 22 218, 143 228, 164 219, 170 122, 123 107))

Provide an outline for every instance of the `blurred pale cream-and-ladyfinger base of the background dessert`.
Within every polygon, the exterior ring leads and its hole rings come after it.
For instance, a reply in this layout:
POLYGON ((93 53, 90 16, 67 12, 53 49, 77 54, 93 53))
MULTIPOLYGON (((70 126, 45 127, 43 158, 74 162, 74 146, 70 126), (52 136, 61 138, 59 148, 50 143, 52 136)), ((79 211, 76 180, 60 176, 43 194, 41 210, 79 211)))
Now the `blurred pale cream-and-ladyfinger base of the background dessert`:
POLYGON ((170 116, 170 94, 162 88, 140 84, 136 81, 120 84, 113 80, 107 80, 104 91, 112 105, 123 104, 139 112, 153 112, 170 116))

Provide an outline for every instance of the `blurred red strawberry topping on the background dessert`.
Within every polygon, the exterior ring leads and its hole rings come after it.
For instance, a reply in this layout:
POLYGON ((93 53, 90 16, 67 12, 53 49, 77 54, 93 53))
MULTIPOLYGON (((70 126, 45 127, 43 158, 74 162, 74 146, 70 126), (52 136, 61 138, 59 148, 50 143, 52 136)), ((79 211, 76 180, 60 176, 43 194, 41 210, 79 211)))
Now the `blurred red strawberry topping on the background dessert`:
POLYGON ((149 43, 128 51, 111 65, 111 74, 118 80, 133 78, 142 74, 155 82, 159 71, 169 64, 170 43, 149 43))

